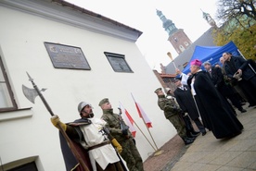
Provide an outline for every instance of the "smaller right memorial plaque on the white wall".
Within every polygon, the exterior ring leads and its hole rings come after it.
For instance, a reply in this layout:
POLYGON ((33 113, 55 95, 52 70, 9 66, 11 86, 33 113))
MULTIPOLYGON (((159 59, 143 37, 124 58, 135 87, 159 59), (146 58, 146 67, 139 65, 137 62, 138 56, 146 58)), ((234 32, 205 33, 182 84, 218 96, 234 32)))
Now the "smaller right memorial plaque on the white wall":
POLYGON ((111 65, 111 67, 116 72, 133 72, 132 69, 128 66, 125 61, 124 55, 112 54, 112 53, 104 53, 111 65))

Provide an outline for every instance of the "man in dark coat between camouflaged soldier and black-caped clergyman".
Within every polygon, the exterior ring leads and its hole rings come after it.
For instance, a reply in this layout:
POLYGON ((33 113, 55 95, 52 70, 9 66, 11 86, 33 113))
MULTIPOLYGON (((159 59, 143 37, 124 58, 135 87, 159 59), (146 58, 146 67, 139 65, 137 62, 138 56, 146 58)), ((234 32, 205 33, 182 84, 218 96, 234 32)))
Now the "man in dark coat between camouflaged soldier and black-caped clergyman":
POLYGON ((173 92, 177 103, 180 105, 183 112, 188 113, 188 116, 195 122, 202 136, 206 134, 206 130, 199 120, 198 106, 193 99, 192 93, 187 85, 181 83, 181 77, 174 79, 177 89, 173 92))

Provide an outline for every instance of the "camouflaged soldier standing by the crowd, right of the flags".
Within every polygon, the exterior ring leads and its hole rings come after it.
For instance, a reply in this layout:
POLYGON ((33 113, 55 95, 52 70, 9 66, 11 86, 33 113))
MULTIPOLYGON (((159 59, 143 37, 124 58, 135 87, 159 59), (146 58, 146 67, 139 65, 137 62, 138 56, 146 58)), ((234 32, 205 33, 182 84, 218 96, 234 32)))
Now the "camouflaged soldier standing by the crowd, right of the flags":
POLYGON ((184 140, 186 145, 193 143, 195 139, 191 139, 186 136, 185 123, 182 122, 181 118, 179 117, 179 114, 182 112, 180 107, 176 105, 172 99, 166 98, 161 88, 157 89, 155 93, 159 97, 158 104, 160 109, 164 111, 165 118, 170 120, 173 127, 176 128, 178 135, 182 138, 182 140, 184 140))

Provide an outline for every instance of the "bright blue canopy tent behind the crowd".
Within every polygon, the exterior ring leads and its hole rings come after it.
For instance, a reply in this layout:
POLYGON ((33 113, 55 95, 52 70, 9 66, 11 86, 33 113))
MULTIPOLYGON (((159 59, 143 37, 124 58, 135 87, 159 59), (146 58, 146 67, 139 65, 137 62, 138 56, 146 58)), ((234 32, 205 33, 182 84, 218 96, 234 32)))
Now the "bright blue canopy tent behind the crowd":
MULTIPOLYGON (((219 63, 220 57, 223 55, 224 52, 229 52, 233 55, 239 55, 239 52, 237 51, 237 46, 232 41, 225 44, 224 46, 196 46, 194 54, 192 55, 190 61, 182 72, 186 74, 190 72, 190 62, 194 59, 198 59, 202 63, 209 61, 213 66, 215 63, 219 63)), ((202 69, 204 69, 203 66, 202 69)))

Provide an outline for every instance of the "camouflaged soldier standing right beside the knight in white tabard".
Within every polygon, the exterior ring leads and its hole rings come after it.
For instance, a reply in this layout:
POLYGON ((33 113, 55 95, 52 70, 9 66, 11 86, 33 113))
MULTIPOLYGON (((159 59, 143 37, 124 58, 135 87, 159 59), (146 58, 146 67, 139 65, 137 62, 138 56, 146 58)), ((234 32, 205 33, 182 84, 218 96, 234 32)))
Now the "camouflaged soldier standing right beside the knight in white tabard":
POLYGON ((143 171, 143 162, 138 152, 135 141, 129 127, 122 121, 122 117, 113 113, 109 99, 102 99, 98 104, 103 115, 101 116, 107 122, 106 127, 109 128, 111 135, 122 145, 121 156, 125 160, 130 171, 143 171))

